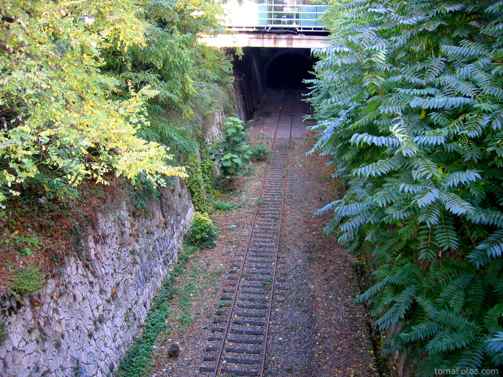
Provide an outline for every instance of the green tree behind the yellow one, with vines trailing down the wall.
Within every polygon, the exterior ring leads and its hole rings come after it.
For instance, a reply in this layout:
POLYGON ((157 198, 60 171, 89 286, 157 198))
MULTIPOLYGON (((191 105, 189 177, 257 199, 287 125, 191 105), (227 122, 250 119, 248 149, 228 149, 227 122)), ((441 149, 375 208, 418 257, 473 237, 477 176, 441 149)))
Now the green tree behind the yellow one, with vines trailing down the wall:
MULTIPOLYGON (((128 85, 135 90, 149 85, 157 91, 144 113, 148 124, 138 135, 170 147, 177 162, 188 165, 191 176, 187 184, 194 205, 202 212, 208 208, 212 184, 206 174, 211 175, 208 164, 214 165, 204 152, 205 127, 213 112, 229 110, 227 104, 232 102, 229 57, 198 40, 201 34, 220 30, 216 17, 220 12, 218 2, 148 0, 141 13, 148 23, 145 46, 127 51, 108 49, 102 67, 125 89, 128 85)), ((117 95, 129 98, 129 91, 121 90, 117 95)))

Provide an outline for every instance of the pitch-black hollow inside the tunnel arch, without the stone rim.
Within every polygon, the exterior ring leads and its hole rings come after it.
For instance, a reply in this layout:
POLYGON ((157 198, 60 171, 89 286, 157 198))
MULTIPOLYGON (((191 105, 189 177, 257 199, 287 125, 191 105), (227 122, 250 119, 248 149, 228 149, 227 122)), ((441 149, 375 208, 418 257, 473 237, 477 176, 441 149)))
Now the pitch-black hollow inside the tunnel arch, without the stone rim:
POLYGON ((267 70, 267 86, 272 89, 305 89, 305 79, 313 78, 312 62, 305 56, 286 53, 278 56, 267 70))

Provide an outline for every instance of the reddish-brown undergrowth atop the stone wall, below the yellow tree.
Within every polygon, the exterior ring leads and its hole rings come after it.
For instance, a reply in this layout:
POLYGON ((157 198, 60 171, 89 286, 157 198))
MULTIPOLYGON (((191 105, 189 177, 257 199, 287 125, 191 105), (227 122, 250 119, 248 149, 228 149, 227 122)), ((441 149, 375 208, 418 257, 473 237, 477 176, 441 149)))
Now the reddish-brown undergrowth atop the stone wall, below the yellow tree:
POLYGON ((82 184, 78 201, 47 199, 43 187, 31 185, 23 196, 12 198, 0 211, 0 290, 10 292, 12 272, 18 267, 39 267, 40 274, 49 277, 62 273, 68 255, 86 258, 81 231, 95 219, 104 187, 114 192, 116 183, 82 184))

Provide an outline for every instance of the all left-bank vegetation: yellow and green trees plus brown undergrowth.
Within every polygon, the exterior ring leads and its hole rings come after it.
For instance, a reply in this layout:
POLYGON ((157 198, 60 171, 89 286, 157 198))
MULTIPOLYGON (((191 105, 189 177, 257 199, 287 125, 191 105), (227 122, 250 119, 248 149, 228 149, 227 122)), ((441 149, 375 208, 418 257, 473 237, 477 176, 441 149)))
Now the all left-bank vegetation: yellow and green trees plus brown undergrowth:
POLYGON ((204 133, 234 111, 230 58, 197 40, 219 30, 217 3, 16 0, 0 12, 0 288, 6 261, 53 273, 69 253, 85 257, 71 224, 92 216, 79 203, 99 209, 100 183, 116 176, 135 185, 143 216, 167 175, 187 176, 172 164, 186 165, 208 211, 204 133))

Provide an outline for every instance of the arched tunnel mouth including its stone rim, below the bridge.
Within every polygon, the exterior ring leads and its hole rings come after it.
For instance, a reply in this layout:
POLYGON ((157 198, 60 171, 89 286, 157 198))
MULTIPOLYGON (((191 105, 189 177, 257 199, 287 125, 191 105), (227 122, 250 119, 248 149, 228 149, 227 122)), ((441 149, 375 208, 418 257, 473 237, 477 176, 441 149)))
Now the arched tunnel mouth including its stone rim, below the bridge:
POLYGON ((315 61, 309 54, 309 50, 281 49, 271 55, 264 66, 263 86, 301 86, 303 79, 312 77, 308 72, 312 70, 315 61))

